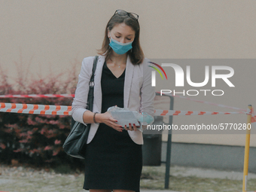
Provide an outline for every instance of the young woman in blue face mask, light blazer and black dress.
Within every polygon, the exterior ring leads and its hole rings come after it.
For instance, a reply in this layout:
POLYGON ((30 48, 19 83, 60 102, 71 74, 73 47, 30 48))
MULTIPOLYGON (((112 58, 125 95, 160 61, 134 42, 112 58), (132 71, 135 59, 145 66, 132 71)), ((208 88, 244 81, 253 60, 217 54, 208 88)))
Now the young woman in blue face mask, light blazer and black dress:
POLYGON ((95 72, 93 111, 86 106, 94 56, 82 62, 72 117, 91 123, 84 175, 84 189, 90 192, 139 192, 142 132, 131 123, 123 129, 107 111, 117 105, 154 116, 151 67, 139 44, 138 18, 117 10, 108 21, 95 72))

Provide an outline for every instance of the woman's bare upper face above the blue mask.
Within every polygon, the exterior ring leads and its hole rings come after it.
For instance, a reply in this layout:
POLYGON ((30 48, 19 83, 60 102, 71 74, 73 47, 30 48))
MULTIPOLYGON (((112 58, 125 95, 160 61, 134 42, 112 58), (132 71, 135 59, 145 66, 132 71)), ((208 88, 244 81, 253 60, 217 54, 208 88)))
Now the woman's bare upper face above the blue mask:
POLYGON ((126 44, 134 40, 135 31, 132 27, 126 26, 125 23, 119 23, 115 25, 111 31, 108 31, 108 38, 110 38, 110 36, 114 38, 114 40, 126 44))

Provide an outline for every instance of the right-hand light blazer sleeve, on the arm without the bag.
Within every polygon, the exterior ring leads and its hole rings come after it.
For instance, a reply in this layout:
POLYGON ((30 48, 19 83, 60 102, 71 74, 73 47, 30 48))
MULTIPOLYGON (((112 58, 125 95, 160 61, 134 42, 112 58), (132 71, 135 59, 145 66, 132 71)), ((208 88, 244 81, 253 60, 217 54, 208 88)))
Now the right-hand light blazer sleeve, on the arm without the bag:
POLYGON ((152 68, 148 67, 151 65, 149 59, 144 59, 143 62, 143 82, 141 87, 141 103, 140 112, 147 112, 154 117, 154 87, 151 86, 151 71, 152 68))

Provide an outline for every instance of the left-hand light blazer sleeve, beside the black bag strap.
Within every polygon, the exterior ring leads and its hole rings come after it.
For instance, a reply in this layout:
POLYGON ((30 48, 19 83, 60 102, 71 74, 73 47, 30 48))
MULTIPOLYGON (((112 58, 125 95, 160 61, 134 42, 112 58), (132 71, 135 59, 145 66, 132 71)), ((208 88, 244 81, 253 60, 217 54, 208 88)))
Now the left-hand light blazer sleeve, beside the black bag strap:
MULTIPOLYGON (((81 66, 81 72, 78 75, 78 85, 75 90, 75 98, 72 102, 72 117, 75 121, 84 123, 83 114, 87 111, 87 97, 89 92, 90 76, 92 74, 93 56, 84 58, 81 66)), ((85 125, 87 123, 84 123, 85 125)))

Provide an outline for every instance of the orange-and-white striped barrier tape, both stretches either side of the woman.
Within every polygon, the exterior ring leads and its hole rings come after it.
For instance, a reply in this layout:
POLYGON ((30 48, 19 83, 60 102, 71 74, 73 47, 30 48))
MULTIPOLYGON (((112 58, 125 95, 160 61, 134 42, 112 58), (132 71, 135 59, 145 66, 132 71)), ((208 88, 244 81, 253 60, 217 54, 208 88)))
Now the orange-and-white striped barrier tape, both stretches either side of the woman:
MULTIPOLYGON (((21 103, 0 102, 0 112, 23 113, 23 114, 58 114, 71 115, 72 106, 64 105, 33 105, 21 103)), ((245 114, 243 111, 221 112, 221 111, 174 111, 174 110, 154 110, 155 116, 166 115, 206 115, 206 114, 245 114)))

